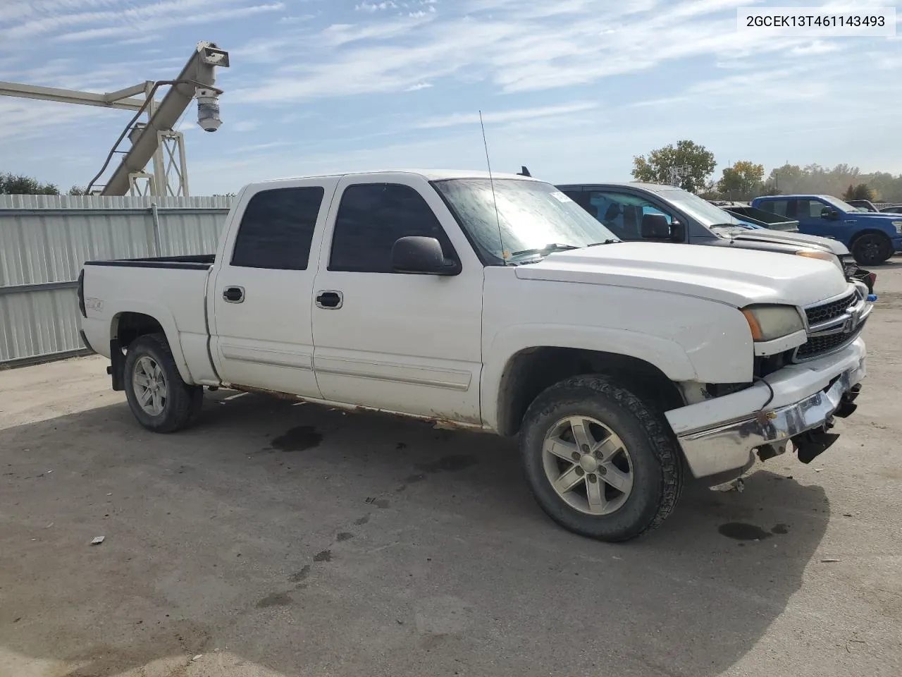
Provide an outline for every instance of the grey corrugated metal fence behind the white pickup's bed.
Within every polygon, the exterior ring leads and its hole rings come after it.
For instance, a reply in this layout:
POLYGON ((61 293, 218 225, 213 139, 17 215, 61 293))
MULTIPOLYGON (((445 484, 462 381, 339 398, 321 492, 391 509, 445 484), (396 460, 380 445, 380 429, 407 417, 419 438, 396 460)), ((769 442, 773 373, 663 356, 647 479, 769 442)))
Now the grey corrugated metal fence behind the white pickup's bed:
POLYGON ((212 254, 231 201, 0 195, 0 364, 78 352, 85 261, 212 254))

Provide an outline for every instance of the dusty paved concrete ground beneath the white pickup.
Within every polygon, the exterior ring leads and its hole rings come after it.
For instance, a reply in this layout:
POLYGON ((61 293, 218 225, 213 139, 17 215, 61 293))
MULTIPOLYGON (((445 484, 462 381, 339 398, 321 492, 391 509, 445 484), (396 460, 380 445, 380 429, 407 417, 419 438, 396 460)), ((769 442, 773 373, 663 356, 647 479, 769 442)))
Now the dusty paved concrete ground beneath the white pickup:
POLYGON ((620 546, 551 524, 488 436, 219 393, 161 437, 102 359, 0 372, 0 677, 897 677, 902 262, 879 276, 833 449, 620 546))

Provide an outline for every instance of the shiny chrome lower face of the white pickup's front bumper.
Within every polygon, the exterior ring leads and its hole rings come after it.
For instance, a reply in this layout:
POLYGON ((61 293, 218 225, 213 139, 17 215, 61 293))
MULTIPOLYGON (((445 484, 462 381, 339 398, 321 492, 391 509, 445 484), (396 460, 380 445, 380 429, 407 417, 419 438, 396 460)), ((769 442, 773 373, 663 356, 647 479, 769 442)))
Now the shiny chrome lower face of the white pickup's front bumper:
POLYGON ((833 384, 796 403, 770 411, 751 413, 677 436, 686 462, 696 478, 747 468, 752 452, 764 444, 786 441, 827 422, 842 396, 864 377, 864 362, 842 372, 833 384))

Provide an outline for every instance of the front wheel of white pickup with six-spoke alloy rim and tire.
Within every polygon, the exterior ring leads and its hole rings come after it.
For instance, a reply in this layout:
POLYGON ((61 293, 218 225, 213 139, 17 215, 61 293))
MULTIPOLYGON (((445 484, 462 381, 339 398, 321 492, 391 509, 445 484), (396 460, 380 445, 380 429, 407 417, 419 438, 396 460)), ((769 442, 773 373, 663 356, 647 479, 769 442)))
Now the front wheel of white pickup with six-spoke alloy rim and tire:
POLYGON ((523 420, 520 452, 542 510, 601 541, 656 528, 683 487, 667 423, 605 376, 575 376, 539 394, 523 420))

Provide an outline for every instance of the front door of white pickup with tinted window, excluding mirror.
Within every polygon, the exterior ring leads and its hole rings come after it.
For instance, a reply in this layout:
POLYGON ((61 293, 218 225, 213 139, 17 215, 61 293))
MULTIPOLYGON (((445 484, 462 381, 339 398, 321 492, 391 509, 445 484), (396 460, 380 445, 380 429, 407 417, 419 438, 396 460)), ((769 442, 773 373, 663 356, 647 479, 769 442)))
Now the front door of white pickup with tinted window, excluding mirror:
POLYGON ((327 400, 479 422, 483 265, 424 178, 345 176, 314 286, 314 365, 327 400), (400 274, 391 247, 435 237, 456 275, 400 274))

